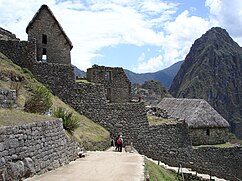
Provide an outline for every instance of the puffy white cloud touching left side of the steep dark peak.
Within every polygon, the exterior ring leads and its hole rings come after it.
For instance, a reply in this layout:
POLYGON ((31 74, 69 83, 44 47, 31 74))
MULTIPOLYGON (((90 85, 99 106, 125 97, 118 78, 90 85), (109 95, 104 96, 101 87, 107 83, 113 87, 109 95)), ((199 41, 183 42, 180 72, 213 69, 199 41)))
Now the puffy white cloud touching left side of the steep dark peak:
POLYGON ((168 67, 177 61, 184 60, 193 42, 204 34, 209 26, 210 23, 205 19, 190 16, 187 10, 182 12, 174 21, 165 24, 165 33, 161 43, 162 55, 152 58, 152 61, 142 62, 134 69, 138 72, 161 70, 162 66, 168 67))

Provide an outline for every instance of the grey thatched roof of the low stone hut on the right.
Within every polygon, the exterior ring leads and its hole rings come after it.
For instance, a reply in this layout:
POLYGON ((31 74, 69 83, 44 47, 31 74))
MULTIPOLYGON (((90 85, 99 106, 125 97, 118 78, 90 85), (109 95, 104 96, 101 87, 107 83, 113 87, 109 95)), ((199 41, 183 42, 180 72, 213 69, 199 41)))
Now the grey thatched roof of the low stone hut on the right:
POLYGON ((157 105, 190 128, 229 127, 229 123, 203 99, 163 98, 157 105))

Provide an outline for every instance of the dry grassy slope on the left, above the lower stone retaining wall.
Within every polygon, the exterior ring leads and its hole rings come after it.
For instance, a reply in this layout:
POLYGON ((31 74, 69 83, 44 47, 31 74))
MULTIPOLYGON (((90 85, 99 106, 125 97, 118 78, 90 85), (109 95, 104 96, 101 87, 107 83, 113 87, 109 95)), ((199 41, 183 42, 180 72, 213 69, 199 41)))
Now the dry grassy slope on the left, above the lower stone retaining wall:
MULTIPOLYGON (((17 89, 16 103, 20 110, 24 110, 25 105, 28 105, 27 101, 30 97, 37 94, 43 98, 41 101, 44 101, 47 107, 51 106, 51 110, 63 107, 66 111, 72 112, 72 115, 78 120, 80 125, 80 127, 73 132, 73 137, 86 150, 102 150, 105 149, 105 145, 110 143, 110 135, 106 129, 87 117, 80 115, 58 97, 53 96, 48 88, 33 78, 33 74, 28 69, 20 68, 1 53, 0 74, 3 77, 0 79, 0 88, 17 89), (15 82, 11 81, 11 77, 23 77, 23 80, 15 82)), ((40 114, 30 114, 15 109, 0 109, 0 126, 22 125, 52 119, 55 118, 40 114)))

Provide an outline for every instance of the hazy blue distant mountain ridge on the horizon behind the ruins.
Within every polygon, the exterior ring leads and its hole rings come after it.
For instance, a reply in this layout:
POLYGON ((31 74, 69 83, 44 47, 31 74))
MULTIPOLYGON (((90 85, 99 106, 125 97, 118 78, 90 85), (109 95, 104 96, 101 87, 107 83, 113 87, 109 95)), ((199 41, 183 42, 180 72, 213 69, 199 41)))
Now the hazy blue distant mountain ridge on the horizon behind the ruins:
MULTIPOLYGON (((163 70, 160 70, 157 72, 153 72, 153 73, 138 74, 138 73, 134 73, 127 69, 124 69, 124 72, 126 73, 130 82, 132 82, 132 83, 143 84, 145 81, 148 81, 148 80, 157 80, 157 81, 160 81, 162 83, 162 85, 164 85, 166 88, 169 88, 172 83, 173 78, 177 74, 182 63, 183 63, 183 61, 179 61, 166 69, 163 69, 163 70)), ((86 76, 86 72, 78 69, 76 66, 74 66, 74 72, 75 72, 75 75, 78 77, 86 76)))

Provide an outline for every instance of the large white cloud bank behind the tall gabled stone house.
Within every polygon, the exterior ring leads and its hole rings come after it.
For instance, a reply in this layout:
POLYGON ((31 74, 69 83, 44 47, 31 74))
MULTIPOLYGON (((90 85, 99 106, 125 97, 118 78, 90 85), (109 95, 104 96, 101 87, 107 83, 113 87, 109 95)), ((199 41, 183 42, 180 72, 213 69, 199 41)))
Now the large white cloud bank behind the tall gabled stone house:
POLYGON ((152 29, 170 18, 175 4, 158 0, 0 0, 0 26, 26 39, 25 28, 46 3, 71 39, 72 63, 85 70, 104 47, 118 44, 161 45, 163 34, 152 29), (157 4, 157 6, 155 6, 157 4), (162 15, 153 17, 150 14, 162 15))

